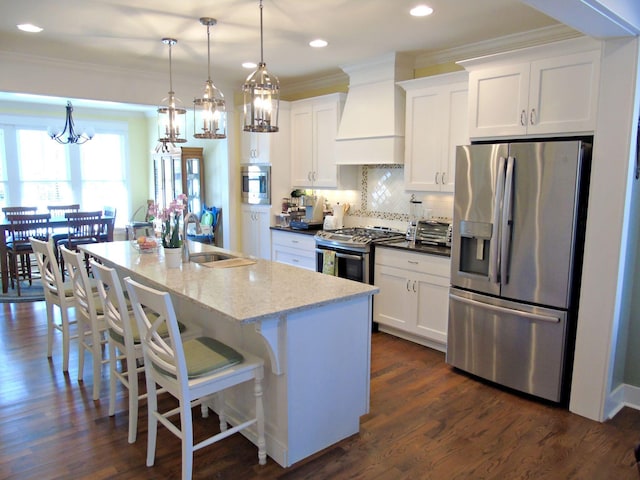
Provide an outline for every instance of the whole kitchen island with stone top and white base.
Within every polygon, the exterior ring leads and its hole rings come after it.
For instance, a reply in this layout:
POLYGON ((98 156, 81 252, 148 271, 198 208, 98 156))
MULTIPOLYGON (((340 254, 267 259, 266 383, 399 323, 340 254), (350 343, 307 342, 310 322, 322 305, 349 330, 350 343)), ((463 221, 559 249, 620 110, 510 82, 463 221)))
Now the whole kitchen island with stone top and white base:
MULTIPOLYGON (((192 253, 241 256, 190 243, 192 253)), ((139 253, 126 241, 80 248, 121 278, 170 292, 191 334, 200 330, 265 360, 267 454, 278 464, 288 467, 358 433, 369 411, 376 287, 260 259, 167 268, 162 250, 139 253)), ((226 400, 232 423, 251 414, 251 386, 226 400)), ((243 434, 256 442, 255 431, 243 434)))

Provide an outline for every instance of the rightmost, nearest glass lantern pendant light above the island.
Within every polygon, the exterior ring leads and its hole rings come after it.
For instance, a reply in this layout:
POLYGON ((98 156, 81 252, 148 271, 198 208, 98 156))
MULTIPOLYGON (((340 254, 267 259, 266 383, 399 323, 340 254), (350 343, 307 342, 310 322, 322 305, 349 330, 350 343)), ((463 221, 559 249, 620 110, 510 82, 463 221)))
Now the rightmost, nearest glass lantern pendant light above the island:
POLYGON ((267 72, 263 53, 262 0, 260 0, 260 63, 258 69, 247 77, 242 86, 245 132, 275 133, 278 131, 280 83, 275 75, 267 72))

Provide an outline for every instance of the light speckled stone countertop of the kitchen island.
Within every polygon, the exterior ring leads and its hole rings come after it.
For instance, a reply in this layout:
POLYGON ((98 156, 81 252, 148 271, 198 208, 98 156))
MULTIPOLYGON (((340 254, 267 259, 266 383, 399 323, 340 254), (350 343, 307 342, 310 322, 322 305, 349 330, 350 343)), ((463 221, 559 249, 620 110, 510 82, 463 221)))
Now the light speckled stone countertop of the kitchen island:
MULTIPOLYGON (((194 252, 242 254, 190 242, 194 252)), ((293 313, 356 297, 373 295, 373 285, 311 272, 269 260, 231 268, 211 268, 183 263, 167 268, 162 248, 140 253, 128 241, 82 245, 82 250, 118 267, 119 273, 144 279, 150 287, 170 291, 230 320, 253 323, 279 314, 293 313)))

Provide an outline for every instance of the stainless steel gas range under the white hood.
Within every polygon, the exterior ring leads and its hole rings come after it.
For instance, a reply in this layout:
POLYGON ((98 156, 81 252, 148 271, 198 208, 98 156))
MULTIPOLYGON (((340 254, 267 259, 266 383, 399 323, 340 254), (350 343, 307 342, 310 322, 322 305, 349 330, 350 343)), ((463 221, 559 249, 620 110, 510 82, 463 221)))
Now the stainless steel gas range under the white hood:
POLYGON ((352 227, 316 234, 316 271, 323 271, 325 252, 333 252, 337 276, 373 284, 374 244, 404 238, 404 232, 386 227, 352 227))

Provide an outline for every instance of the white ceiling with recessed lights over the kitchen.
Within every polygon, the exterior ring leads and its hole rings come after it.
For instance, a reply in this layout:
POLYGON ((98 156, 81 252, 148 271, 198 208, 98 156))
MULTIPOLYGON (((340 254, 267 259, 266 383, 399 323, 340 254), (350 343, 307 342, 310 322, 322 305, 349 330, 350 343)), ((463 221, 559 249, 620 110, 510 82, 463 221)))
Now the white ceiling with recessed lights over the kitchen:
MULTIPOLYGON (((422 0, 264 0, 264 60, 283 84, 340 73, 341 65, 390 52, 425 54, 558 25, 519 0, 425 0, 428 17, 408 11, 422 0), (508 21, 505 21, 508 19, 508 21), (324 38, 329 46, 312 49, 324 38)), ((70 62, 168 73, 207 74, 206 27, 213 17, 214 83, 242 83, 244 61, 260 59, 258 0, 0 0, 0 51, 70 62), (44 31, 16 28, 33 23, 44 31), (218 80, 217 80, 218 79, 218 80)))

